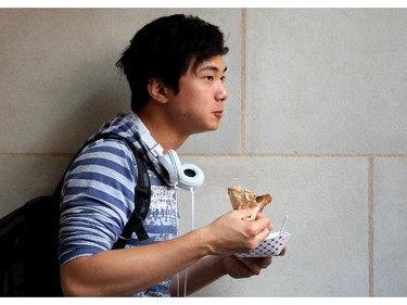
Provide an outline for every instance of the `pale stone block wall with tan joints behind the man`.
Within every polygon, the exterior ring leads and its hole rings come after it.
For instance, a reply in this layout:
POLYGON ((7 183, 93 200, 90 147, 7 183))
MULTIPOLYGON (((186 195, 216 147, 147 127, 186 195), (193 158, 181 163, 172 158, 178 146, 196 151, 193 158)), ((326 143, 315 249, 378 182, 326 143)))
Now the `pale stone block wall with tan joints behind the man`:
MULTIPOLYGON (((406 296, 407 11, 404 9, 0 10, 0 216, 52 192, 72 154, 129 111, 115 68, 151 20, 192 13, 230 53, 222 126, 192 137, 205 171, 195 227, 230 209, 226 189, 270 192, 289 252, 252 279, 195 296, 406 296)), ((181 232, 191 198, 180 191, 181 232)))

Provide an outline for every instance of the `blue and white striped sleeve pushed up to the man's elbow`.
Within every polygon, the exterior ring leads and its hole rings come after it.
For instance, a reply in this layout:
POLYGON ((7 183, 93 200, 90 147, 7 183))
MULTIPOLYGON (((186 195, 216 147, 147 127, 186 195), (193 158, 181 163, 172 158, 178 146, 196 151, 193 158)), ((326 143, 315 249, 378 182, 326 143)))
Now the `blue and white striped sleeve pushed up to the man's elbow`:
POLYGON ((136 162, 120 141, 99 140, 74 161, 61 202, 60 265, 110 250, 135 204, 136 162))

